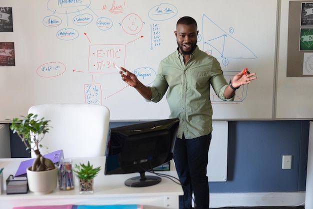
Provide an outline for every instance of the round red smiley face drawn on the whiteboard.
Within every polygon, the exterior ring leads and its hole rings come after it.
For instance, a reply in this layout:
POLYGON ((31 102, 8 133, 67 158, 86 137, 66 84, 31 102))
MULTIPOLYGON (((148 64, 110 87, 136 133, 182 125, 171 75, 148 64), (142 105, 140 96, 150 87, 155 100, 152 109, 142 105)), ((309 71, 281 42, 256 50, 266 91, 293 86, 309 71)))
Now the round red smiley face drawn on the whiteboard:
POLYGON ((142 20, 136 14, 127 15, 121 22, 121 27, 126 34, 135 35, 142 29, 142 20))

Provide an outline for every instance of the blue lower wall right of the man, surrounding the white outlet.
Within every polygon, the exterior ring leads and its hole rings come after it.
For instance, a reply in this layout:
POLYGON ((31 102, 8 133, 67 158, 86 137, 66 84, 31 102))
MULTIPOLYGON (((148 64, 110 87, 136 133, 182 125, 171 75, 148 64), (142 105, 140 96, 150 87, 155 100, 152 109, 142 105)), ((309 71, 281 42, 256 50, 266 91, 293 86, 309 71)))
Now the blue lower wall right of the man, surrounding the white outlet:
POLYGON ((229 121, 227 181, 210 192, 304 191, 308 121, 229 121), (292 168, 281 169, 282 155, 292 168))

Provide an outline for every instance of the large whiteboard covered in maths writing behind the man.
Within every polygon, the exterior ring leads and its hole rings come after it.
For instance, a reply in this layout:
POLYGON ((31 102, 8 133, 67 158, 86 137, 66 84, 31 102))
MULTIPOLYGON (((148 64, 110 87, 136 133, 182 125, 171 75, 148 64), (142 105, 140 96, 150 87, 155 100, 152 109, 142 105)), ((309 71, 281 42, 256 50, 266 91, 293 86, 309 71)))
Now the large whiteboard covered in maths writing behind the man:
POLYGON ((0 66, 0 121, 67 102, 105 105, 111 121, 168 118, 165 98, 146 102, 113 65, 151 85, 160 60, 177 47, 183 16, 197 21, 197 44, 218 59, 226 80, 243 68, 258 76, 233 102, 212 91, 213 119, 273 118, 277 1, 0 0, 0 7, 12 9, 13 32, 0 32, 0 40, 14 44, 15 63, 0 66))

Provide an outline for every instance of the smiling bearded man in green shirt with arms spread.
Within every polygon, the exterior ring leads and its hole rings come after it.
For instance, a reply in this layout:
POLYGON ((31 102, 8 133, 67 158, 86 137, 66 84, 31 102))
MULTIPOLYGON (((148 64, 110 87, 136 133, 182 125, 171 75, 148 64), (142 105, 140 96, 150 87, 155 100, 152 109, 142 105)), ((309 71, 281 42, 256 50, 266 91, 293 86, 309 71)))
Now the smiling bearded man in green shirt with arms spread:
POLYGON ((179 118, 173 159, 183 196, 179 208, 191 208, 192 192, 196 209, 209 206, 207 154, 212 131, 210 85, 222 100, 232 101, 235 90, 249 84, 255 73, 242 70, 226 82, 218 61, 199 50, 197 24, 190 17, 182 17, 174 31, 178 48, 163 59, 152 87, 146 87, 126 69, 120 75, 146 100, 158 102, 166 94, 170 118, 179 118))

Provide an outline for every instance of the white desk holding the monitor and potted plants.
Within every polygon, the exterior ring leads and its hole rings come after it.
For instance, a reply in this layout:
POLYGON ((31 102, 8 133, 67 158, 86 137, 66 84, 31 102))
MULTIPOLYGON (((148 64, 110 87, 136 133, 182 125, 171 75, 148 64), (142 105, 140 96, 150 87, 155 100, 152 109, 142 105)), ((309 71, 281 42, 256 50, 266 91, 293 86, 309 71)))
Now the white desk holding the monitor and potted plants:
MULTIPOLYGON (((5 158, 0 159, 0 167, 3 169, 4 190, 5 180, 9 174, 15 174, 20 161, 27 158, 5 158)), ((1 208, 12 208, 14 206, 28 205, 60 205, 60 204, 142 204, 144 209, 156 208, 178 208, 178 195, 182 195, 181 186, 170 179, 161 177, 160 183, 147 187, 128 187, 124 180, 139 175, 139 173, 104 175, 105 157, 73 158, 75 163, 87 163, 90 161, 94 167, 101 166, 100 173, 94 178, 94 193, 79 194, 78 179, 75 177, 75 188, 69 191, 59 190, 57 187, 52 193, 35 195, 28 191, 27 194, 6 194, 0 195, 1 208)), ((174 165, 171 163, 170 171, 161 171, 164 174, 177 177, 174 165)), ((146 173, 149 174, 149 173, 146 173)), ((150 175, 150 174, 149 174, 150 175)), ((153 175, 153 174, 151 174, 153 175)))

